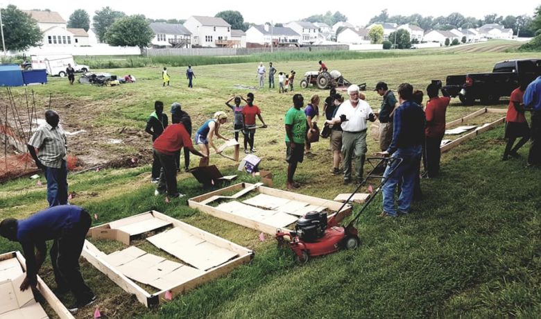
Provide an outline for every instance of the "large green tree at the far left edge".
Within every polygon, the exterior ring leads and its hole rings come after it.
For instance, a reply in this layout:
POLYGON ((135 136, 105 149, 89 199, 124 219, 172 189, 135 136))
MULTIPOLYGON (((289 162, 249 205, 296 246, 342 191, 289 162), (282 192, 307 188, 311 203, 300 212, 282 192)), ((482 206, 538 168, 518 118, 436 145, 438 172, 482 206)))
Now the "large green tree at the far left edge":
POLYGON ((12 4, 0 9, 6 51, 24 51, 42 42, 43 34, 32 17, 12 4))

